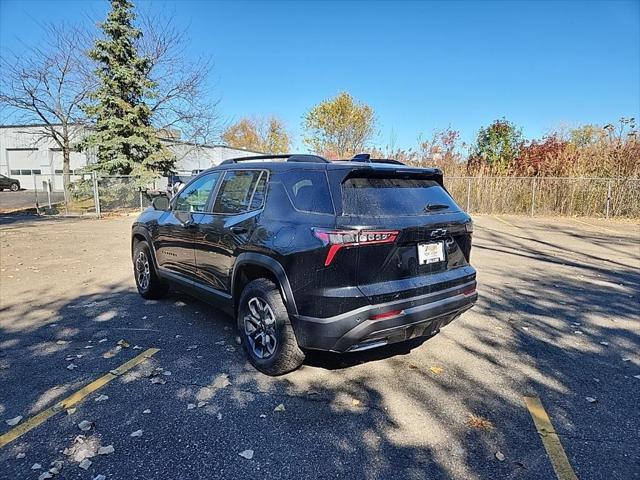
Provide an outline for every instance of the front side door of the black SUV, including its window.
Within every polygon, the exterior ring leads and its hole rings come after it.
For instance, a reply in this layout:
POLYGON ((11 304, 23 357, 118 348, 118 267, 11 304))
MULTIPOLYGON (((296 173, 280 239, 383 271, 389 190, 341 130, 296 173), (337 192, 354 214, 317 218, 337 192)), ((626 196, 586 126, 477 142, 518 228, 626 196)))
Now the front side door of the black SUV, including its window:
POLYGON ((211 193, 220 178, 220 172, 211 172, 196 178, 171 202, 171 210, 158 219, 154 240, 156 259, 161 268, 174 273, 196 276, 193 242, 197 220, 209 211, 211 193))

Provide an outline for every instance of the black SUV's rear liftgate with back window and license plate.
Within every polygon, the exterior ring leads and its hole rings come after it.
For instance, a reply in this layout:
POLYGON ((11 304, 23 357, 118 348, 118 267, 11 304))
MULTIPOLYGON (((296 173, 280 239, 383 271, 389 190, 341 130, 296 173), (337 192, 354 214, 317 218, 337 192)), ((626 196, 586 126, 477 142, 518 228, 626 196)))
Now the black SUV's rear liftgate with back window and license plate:
POLYGON ((353 171, 341 182, 339 227, 355 227, 369 240, 362 237, 357 248, 356 278, 372 303, 468 281, 470 218, 441 182, 426 173, 375 169, 353 171), (395 241, 376 243, 377 232, 391 232, 395 241))

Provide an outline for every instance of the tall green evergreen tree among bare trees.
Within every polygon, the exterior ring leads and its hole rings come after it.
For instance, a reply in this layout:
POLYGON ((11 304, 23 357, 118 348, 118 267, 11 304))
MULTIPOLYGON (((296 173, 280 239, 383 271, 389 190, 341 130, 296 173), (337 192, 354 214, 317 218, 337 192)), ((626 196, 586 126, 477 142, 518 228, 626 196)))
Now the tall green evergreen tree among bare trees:
POLYGON ((100 82, 92 92, 92 103, 85 106, 96 129, 83 146, 97 155, 92 168, 112 175, 165 173, 175 163, 151 125, 145 97, 153 96, 155 84, 147 75, 149 59, 136 48, 142 32, 134 20, 130 0, 111 0, 107 20, 100 24, 104 38, 97 39, 89 52, 98 63, 100 82))

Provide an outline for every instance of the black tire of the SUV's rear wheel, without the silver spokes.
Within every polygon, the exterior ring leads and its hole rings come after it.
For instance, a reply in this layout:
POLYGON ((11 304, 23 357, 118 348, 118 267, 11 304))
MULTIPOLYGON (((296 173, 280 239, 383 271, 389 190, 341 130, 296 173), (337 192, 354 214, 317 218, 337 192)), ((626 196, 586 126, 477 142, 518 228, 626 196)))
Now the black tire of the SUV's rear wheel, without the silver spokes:
MULTIPOLYGON (((259 278, 244 287, 238 303, 237 324, 242 347, 247 357, 249 357, 249 361, 257 370, 267 375, 275 376, 291 372, 302 365, 304 352, 298 346, 280 290, 271 280, 259 278), (258 342, 252 340, 253 337, 247 333, 247 328, 245 328, 245 317, 249 316, 255 319, 249 306, 250 301, 253 301, 254 305, 256 302, 259 304, 260 301, 266 303, 270 309, 270 313, 266 315, 271 316, 273 314, 275 320, 273 323, 267 322, 268 324, 264 327, 265 331, 269 330, 271 332, 269 337, 275 338, 275 347, 272 353, 268 352, 266 347, 262 348, 266 356, 263 355, 261 357, 259 355, 260 348, 255 346, 258 342)), ((271 342, 267 343, 271 344, 271 342)))

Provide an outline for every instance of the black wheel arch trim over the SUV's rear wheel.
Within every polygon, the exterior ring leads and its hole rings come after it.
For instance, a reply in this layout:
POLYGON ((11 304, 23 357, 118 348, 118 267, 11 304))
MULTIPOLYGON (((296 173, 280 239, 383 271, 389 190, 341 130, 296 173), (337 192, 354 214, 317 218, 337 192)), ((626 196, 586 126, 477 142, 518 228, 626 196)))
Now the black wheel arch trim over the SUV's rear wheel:
POLYGON ((253 252, 241 253, 233 267, 231 294, 234 313, 237 312, 238 300, 242 289, 256 278, 268 278, 273 281, 280 289, 287 312, 291 315, 297 315, 298 309, 293 298, 291 285, 280 262, 266 255, 253 252))

